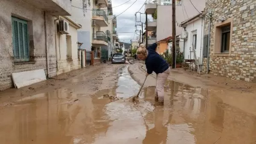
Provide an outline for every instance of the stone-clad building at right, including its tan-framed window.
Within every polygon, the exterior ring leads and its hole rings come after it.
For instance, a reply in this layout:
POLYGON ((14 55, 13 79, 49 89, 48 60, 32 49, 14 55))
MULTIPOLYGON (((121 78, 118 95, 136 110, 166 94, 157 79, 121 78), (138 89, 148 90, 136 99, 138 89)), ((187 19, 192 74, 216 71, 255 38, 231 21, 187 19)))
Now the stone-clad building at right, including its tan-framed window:
POLYGON ((253 0, 206 0, 204 35, 210 33, 210 45, 204 72, 256 82, 255 8, 253 0))

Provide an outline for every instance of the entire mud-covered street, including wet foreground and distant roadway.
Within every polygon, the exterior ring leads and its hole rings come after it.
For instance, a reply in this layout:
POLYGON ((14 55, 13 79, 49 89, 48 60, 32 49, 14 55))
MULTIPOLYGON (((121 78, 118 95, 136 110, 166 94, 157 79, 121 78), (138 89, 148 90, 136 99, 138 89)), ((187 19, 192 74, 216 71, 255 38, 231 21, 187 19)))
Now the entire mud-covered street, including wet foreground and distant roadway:
POLYGON ((134 105, 144 78, 142 63, 100 64, 0 92, 0 143, 256 143, 255 85, 172 70, 164 106, 155 75, 134 105))

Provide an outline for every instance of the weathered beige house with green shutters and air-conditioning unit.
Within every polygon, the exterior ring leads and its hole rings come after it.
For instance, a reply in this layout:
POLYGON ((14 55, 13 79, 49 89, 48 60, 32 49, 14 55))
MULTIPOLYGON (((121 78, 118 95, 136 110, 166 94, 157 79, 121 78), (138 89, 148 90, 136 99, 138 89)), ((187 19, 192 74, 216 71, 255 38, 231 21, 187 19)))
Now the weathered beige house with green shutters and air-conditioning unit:
POLYGON ((81 67, 76 39, 81 26, 66 17, 71 12, 71 0, 0 1, 0 90, 14 86, 15 72, 44 69, 49 78, 81 67), (60 29, 63 19, 66 27, 60 29))

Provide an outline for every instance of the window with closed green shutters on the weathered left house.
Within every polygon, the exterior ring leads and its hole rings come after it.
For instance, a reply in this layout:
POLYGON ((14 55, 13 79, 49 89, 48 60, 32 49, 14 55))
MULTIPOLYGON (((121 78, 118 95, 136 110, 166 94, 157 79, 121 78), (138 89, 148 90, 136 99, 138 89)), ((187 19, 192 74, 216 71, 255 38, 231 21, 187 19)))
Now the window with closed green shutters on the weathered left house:
POLYGON ((12 43, 15 62, 29 61, 28 22, 12 17, 12 43))

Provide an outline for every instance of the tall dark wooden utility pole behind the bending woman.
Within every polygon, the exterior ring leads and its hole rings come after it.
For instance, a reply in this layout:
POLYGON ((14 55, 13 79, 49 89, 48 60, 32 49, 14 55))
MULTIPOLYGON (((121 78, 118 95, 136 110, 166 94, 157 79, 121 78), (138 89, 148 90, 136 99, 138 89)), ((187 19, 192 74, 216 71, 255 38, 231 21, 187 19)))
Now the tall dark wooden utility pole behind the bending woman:
POLYGON ((172 69, 175 69, 175 38, 176 38, 176 0, 172 0, 172 69))

